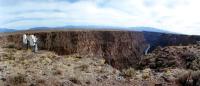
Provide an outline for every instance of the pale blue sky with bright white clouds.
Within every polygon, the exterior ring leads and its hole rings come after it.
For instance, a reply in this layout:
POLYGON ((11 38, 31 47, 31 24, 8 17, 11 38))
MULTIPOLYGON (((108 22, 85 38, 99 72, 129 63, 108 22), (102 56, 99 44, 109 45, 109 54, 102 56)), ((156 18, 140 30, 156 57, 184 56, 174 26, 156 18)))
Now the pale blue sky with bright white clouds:
POLYGON ((0 0, 0 28, 154 27, 200 35, 200 0, 0 0))

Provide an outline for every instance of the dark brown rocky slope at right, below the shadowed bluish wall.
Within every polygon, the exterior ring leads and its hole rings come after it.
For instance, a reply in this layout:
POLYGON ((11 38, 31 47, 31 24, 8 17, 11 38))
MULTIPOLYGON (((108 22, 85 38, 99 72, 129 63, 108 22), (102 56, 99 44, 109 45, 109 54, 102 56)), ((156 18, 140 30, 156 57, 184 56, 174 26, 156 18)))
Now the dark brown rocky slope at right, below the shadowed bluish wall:
POLYGON ((199 70, 199 56, 199 44, 156 48, 152 53, 143 57, 140 67, 146 66, 152 69, 178 67, 199 70))

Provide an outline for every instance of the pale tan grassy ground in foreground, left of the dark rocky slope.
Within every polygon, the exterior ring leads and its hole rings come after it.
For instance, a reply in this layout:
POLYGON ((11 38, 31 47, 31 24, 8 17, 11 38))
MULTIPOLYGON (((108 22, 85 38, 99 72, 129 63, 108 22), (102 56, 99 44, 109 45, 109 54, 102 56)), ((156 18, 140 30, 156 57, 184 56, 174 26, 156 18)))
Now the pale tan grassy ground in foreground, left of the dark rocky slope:
POLYGON ((120 72, 104 59, 42 50, 33 53, 17 50, 13 43, 0 43, 0 86, 138 86, 143 77, 144 85, 151 80, 150 69, 142 71, 144 75, 133 68, 120 72))

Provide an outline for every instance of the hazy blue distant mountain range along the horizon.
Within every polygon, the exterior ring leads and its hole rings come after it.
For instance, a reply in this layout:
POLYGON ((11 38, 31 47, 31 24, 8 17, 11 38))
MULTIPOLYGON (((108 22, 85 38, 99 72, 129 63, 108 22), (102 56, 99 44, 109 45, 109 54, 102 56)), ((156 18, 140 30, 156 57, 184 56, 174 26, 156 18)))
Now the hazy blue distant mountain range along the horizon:
MULTIPOLYGON (((141 32, 159 32, 159 33, 174 33, 166 30, 161 30, 153 27, 112 27, 112 26, 64 26, 64 27, 35 27, 28 30, 62 30, 62 29, 88 29, 88 30, 129 30, 129 31, 141 31, 141 32)), ((16 32, 20 30, 0 28, 0 32, 16 32)))

